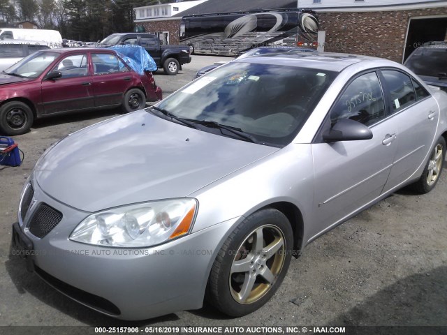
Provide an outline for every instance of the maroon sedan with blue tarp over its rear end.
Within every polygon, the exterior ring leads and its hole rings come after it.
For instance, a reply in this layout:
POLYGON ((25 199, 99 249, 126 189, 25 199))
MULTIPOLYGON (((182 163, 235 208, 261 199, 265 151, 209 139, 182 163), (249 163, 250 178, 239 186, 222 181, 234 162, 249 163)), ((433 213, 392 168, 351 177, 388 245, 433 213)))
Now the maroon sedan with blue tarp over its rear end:
POLYGON ((132 112, 161 98, 152 73, 135 73, 113 50, 42 50, 0 74, 0 135, 26 133, 48 115, 119 106, 132 112))

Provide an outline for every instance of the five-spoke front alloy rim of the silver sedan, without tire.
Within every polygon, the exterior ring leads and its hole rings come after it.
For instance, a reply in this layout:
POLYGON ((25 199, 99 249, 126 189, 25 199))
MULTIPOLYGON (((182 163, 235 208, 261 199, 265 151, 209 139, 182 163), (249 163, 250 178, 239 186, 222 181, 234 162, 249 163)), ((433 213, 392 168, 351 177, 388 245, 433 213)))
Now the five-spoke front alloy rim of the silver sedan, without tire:
POLYGON ((286 258, 284 234, 274 225, 253 230, 237 249, 230 269, 230 291, 240 304, 251 304, 274 285, 286 258))

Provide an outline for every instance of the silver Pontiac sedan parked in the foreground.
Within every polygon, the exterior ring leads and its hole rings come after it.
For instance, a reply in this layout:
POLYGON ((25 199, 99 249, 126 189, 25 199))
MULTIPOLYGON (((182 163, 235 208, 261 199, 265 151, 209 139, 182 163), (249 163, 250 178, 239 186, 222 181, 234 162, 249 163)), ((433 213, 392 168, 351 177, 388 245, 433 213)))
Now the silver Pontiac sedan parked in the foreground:
POLYGON ((205 297, 245 315, 306 244, 402 186, 434 188, 446 122, 447 94, 393 61, 235 60, 45 151, 13 244, 44 281, 115 318, 205 297))

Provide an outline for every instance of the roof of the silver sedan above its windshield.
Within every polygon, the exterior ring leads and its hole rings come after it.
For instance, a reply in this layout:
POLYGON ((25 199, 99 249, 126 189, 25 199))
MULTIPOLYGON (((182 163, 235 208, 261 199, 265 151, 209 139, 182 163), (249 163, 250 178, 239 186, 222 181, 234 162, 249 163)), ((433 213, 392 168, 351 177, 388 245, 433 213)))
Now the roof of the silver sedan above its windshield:
POLYGON ((317 68, 321 70, 331 70, 341 72, 344 68, 353 64, 366 63, 371 61, 381 61, 381 66, 396 66, 394 61, 380 59, 376 57, 362 56, 358 54, 339 54, 335 52, 302 52, 297 50, 279 52, 275 54, 259 54, 237 62, 251 62, 259 64, 277 64, 285 66, 299 66, 305 68, 317 68))

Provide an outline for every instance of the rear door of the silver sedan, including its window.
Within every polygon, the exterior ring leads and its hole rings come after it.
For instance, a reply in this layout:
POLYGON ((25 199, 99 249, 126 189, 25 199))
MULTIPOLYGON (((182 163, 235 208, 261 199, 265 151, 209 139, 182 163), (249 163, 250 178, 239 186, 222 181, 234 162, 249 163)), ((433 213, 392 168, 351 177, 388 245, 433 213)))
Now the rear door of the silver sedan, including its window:
POLYGON ((397 126, 397 152, 384 192, 409 179, 421 164, 434 142, 439 108, 434 98, 407 73, 397 69, 382 70, 392 122, 397 126))

